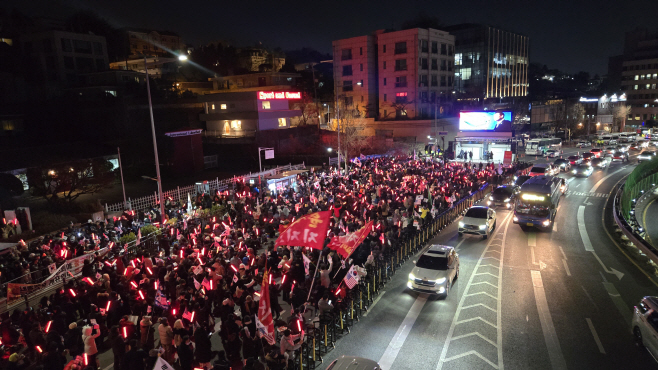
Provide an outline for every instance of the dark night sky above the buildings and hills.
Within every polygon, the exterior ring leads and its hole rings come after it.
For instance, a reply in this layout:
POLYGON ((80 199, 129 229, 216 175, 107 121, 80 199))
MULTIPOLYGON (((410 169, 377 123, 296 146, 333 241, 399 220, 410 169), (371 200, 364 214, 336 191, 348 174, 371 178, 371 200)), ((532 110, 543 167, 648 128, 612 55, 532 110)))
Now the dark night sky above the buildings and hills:
POLYGON ((260 42, 327 53, 332 40, 399 28, 422 12, 447 25, 486 23, 527 35, 531 62, 592 75, 605 74, 608 57, 621 53, 624 32, 636 27, 658 31, 657 0, 5 0, 0 7, 52 17, 94 10, 115 27, 171 30, 192 45, 260 42))

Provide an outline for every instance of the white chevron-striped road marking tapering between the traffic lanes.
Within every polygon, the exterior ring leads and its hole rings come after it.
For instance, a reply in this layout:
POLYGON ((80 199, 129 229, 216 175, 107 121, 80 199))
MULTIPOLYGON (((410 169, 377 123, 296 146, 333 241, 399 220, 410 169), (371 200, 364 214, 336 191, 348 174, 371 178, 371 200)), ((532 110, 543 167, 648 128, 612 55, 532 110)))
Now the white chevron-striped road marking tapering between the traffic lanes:
MULTIPOLYGON (((480 255, 480 259, 478 260, 478 262, 475 265, 475 268, 473 269, 473 273, 471 274, 471 277, 469 278, 468 283, 466 284, 466 288, 464 289, 464 294, 462 294, 462 297, 459 300, 459 304, 457 305, 457 310, 455 311, 455 314, 452 318, 452 323, 450 324, 450 329, 448 330, 448 335, 446 336, 445 343, 443 345, 443 349, 441 350, 441 356, 439 357, 439 361, 436 364, 436 370, 441 370, 443 368, 443 364, 448 362, 448 361, 454 361, 454 360, 457 360, 459 358, 470 356, 470 355, 474 355, 474 356, 479 357, 480 359, 482 359, 483 361, 488 363, 494 369, 499 369, 499 370, 504 369, 504 365, 503 365, 502 310, 501 310, 502 281, 503 281, 503 279, 502 279, 502 277, 503 277, 502 267, 503 267, 504 251, 505 251, 505 247, 504 247, 505 246, 505 240, 507 238, 507 230, 509 229, 509 225, 511 224, 511 222, 510 222, 511 219, 512 219, 511 216, 512 216, 512 213, 509 213, 507 216, 505 216, 505 218, 503 219, 503 222, 501 223, 501 228, 499 229, 499 230, 502 231, 502 233, 496 232, 496 234, 494 234, 494 236, 491 237, 491 240, 487 243, 487 246, 484 248, 484 251, 482 251, 482 255, 480 255), (501 237, 502 237, 502 240, 500 240, 501 245, 500 246, 499 245, 494 245, 494 240, 496 240, 497 238, 501 238, 501 237), (498 250, 489 250, 489 248, 491 248, 491 247, 500 248, 500 251, 498 251, 498 250), (480 265, 481 265, 482 261, 487 258, 487 257, 485 257, 485 255, 488 252, 498 252, 500 254, 500 259, 499 259, 500 268, 498 269, 498 275, 494 275, 494 274, 489 273, 489 272, 477 273, 477 270, 481 267, 480 265), (497 285, 494 285, 492 283, 488 283, 492 287, 496 288, 496 290, 498 291, 496 296, 494 296, 494 295, 492 295, 488 292, 469 293, 472 286, 479 284, 479 282, 478 283, 473 283, 473 279, 475 278, 476 275, 491 275, 491 276, 495 276, 495 277, 498 278, 498 281, 496 282, 497 285), (479 316, 474 317, 474 318, 465 319, 465 320, 459 320, 459 315, 462 312, 462 310, 465 307, 473 306, 473 305, 470 305, 470 306, 465 306, 464 305, 464 302, 465 302, 466 298, 467 297, 477 297, 477 296, 480 296, 480 295, 491 297, 491 298, 493 298, 497 301, 497 305, 496 305, 496 323, 495 324, 490 322, 490 321, 487 321, 487 320, 485 320, 485 319, 483 319, 482 317, 479 317, 479 316), (484 356, 482 356, 482 354, 480 354, 477 351, 477 348, 473 349, 473 350, 464 351, 460 354, 457 354, 457 355, 454 355, 454 356, 451 356, 451 357, 447 357, 448 347, 450 346, 450 342, 455 340, 455 338, 459 339, 459 338, 463 337, 463 334, 461 336, 453 336, 453 333, 455 332, 455 327, 457 325, 464 324, 464 323, 471 322, 471 321, 476 321, 476 320, 479 320, 481 322, 484 322, 484 323, 489 324, 490 326, 496 328, 496 348, 498 350, 498 352, 497 352, 497 357, 498 357, 497 361, 492 362, 490 359, 485 358, 484 356)), ((491 307, 488 307, 488 308, 491 309, 491 307)), ((473 333, 476 333, 476 332, 473 332, 473 333)), ((490 339, 490 341, 493 342, 493 340, 491 340, 491 339, 490 339)), ((487 341, 487 342, 489 342, 489 341, 487 341)))

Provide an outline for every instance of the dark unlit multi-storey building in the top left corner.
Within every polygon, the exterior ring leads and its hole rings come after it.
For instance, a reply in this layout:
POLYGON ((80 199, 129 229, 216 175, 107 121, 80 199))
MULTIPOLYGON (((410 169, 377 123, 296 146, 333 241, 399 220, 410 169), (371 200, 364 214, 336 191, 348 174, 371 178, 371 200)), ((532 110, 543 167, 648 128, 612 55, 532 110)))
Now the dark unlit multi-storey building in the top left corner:
POLYGON ((81 74, 108 69, 103 36, 51 30, 21 36, 20 43, 47 82, 73 86, 81 74))

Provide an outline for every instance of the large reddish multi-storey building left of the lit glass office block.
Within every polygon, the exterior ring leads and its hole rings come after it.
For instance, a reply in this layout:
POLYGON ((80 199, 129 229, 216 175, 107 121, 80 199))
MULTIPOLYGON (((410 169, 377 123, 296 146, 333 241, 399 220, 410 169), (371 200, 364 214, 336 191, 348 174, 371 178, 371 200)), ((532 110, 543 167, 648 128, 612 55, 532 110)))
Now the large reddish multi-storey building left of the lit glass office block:
POLYGON ((333 42, 337 96, 364 117, 423 119, 452 100, 454 37, 412 28, 333 42))

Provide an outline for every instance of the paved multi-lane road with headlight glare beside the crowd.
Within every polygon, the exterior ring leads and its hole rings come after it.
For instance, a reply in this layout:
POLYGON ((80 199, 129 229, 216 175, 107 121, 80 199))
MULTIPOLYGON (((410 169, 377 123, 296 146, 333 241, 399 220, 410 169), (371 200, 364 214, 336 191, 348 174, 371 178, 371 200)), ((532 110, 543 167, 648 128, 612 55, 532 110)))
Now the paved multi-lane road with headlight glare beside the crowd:
POLYGON ((460 254, 450 296, 409 292, 407 262, 323 366, 345 354, 384 370, 658 368, 630 332, 633 306, 658 286, 610 239, 614 221, 603 217, 607 195, 634 166, 563 174, 570 190, 553 232, 524 232, 506 210, 488 240, 448 227, 433 243, 460 254))

